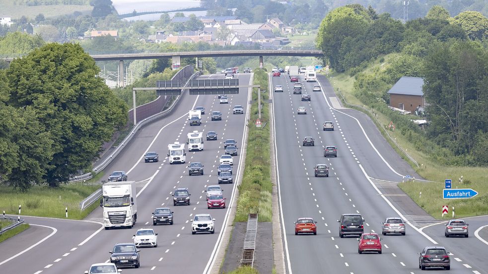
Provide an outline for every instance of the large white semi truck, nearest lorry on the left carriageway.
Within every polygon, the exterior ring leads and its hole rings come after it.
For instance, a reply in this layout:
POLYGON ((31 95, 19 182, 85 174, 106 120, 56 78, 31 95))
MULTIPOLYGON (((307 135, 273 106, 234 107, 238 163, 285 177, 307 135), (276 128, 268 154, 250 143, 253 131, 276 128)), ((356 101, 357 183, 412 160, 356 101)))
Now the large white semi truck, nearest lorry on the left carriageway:
POLYGON ((102 185, 103 226, 133 227, 137 221, 136 182, 106 182, 102 185))

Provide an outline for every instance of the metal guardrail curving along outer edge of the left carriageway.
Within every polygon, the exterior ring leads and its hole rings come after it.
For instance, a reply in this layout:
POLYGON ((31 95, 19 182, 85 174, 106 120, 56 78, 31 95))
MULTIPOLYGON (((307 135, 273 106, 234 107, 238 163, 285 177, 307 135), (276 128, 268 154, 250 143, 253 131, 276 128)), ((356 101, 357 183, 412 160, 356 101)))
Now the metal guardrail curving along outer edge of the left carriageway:
MULTIPOLYGON (((190 82, 190 80, 192 80, 194 77, 196 76, 200 76, 200 74, 202 73, 202 71, 197 71, 196 73, 194 73, 192 76, 190 76, 190 78, 187 80, 186 85, 188 85, 188 82, 190 82)), ((87 180, 87 179, 90 179, 93 177, 93 173, 98 173, 100 172, 101 170, 103 170, 108 164, 112 163, 112 161, 117 157, 117 155, 119 155, 119 153, 125 148, 125 144, 128 144, 132 138, 136 135, 136 132, 144 125, 154 121, 154 120, 157 120, 161 117, 164 117, 166 115, 168 115, 169 113, 171 113, 171 111, 173 111, 176 107, 178 107, 178 105, 180 104, 180 101, 181 99, 183 98, 183 96, 185 95, 186 93, 182 93, 182 95, 178 96, 176 98, 176 100, 173 102, 173 104, 171 104, 171 106, 167 109, 167 110, 164 110, 160 113, 157 113, 157 114, 154 114, 150 117, 147 117, 145 119, 143 119, 142 121, 140 121, 131 131, 131 133, 129 135, 127 135, 127 137, 124 139, 124 141, 122 141, 122 143, 117 146, 117 148, 115 149, 115 151, 110 155, 110 157, 108 157, 107 159, 105 159, 105 161, 103 161, 101 164, 97 165, 95 168, 93 168, 92 172, 89 172, 89 173, 85 173, 83 175, 80 175, 80 176, 75 176, 73 177, 73 180, 70 181, 70 182, 76 182, 76 181, 82 181, 82 180, 87 180)), ((101 188, 97 191, 95 191, 94 193, 92 193, 90 196, 86 197, 83 201, 81 201, 79 203, 79 208, 80 210, 84 210, 86 209, 87 207, 89 207, 91 204, 93 204, 100 196, 102 195, 102 190, 101 188)))

